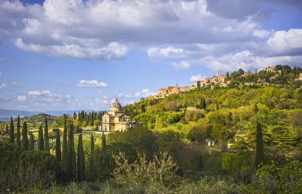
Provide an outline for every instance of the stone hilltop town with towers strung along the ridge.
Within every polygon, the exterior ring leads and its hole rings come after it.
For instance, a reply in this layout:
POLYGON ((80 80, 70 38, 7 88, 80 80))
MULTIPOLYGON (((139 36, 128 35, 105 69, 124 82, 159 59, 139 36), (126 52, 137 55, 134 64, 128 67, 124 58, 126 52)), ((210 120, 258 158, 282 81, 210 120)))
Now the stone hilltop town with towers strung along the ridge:
MULTIPOLYGON (((281 66, 277 65, 275 67, 266 67, 259 73, 257 72, 257 69, 255 73, 252 73, 250 70, 248 72, 244 72, 244 70, 240 69, 238 72, 233 72, 231 75, 229 72, 226 72, 226 74, 221 74, 219 73, 219 70, 216 72, 216 76, 213 77, 208 77, 204 78, 203 80, 200 81, 194 81, 194 83, 190 86, 183 86, 179 87, 178 84, 176 86, 167 86, 166 88, 161 88, 158 90, 157 95, 155 96, 147 96, 145 98, 142 98, 141 100, 148 100, 148 99, 157 99, 157 98, 165 98, 171 94, 181 94, 190 90, 194 90, 198 87, 208 87, 210 86, 212 89, 215 86, 220 86, 220 87, 228 87, 232 82, 238 82, 240 80, 245 80, 247 82, 244 82, 245 84, 254 84, 254 83, 274 83, 274 81, 277 79, 278 76, 282 77, 284 72, 287 74, 288 69, 291 70, 297 70, 300 68, 296 67, 289 67, 289 66, 281 66), (255 74, 260 74, 264 73, 266 75, 259 77, 255 80, 255 78, 250 79, 251 77, 255 76, 255 74), (237 77, 241 77, 242 79, 233 79, 235 76, 234 74, 237 74, 237 77), (249 79, 243 79, 243 78, 249 78, 249 79)), ((297 80, 302 80, 302 73, 297 74, 297 77, 291 77, 289 75, 289 80, 288 81, 297 81, 297 80)))

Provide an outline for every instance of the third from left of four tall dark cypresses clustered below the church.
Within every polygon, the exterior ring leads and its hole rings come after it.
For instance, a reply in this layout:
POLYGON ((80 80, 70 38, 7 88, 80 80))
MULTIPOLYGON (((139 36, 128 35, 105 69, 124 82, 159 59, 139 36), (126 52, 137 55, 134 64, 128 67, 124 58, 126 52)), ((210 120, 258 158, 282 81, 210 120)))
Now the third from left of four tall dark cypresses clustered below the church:
POLYGON ((75 152, 74 152, 74 138, 73 138, 73 124, 70 125, 68 133, 68 175, 70 180, 75 179, 76 168, 75 152))

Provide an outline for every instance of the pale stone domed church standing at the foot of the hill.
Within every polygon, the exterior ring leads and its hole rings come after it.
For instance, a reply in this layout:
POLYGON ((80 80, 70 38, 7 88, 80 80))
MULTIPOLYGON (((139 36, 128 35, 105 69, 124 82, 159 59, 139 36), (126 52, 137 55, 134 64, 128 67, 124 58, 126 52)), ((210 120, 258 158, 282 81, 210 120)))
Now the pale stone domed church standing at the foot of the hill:
POLYGON ((122 111, 119 100, 115 98, 110 106, 110 111, 102 116, 102 124, 99 125, 99 131, 124 131, 136 126, 142 126, 142 123, 131 121, 130 117, 122 111))

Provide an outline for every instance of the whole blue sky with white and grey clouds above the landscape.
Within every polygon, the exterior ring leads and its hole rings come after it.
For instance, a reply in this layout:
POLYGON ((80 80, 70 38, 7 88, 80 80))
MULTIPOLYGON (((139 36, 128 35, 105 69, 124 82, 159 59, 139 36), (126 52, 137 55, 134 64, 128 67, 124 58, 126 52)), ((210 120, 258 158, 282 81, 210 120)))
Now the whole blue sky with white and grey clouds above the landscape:
POLYGON ((204 77, 302 67, 300 0, 0 0, 0 109, 108 110, 204 77))

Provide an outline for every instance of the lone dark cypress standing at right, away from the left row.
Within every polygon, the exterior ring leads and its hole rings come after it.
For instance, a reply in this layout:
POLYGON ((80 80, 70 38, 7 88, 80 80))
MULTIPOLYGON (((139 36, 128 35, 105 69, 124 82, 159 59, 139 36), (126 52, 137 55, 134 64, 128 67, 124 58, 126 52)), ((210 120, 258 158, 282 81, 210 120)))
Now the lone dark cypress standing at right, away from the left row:
POLYGON ((256 134, 256 158, 255 158, 255 169, 258 169, 260 162, 264 160, 263 154, 263 133, 261 124, 257 122, 257 134, 256 134))

